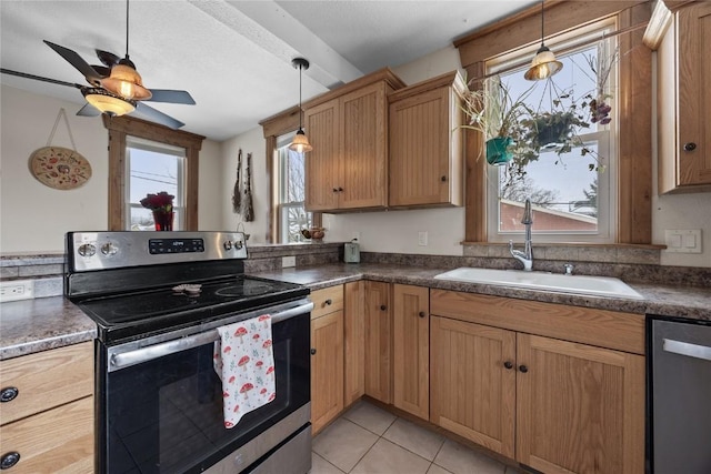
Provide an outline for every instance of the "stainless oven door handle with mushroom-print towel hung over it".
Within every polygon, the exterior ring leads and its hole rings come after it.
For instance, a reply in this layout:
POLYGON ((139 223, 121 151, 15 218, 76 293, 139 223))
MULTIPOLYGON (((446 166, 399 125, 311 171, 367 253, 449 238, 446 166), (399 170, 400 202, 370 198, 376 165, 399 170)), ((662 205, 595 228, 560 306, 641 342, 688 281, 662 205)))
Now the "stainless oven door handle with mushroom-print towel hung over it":
MULTIPOLYGON (((280 321, 288 320, 299 314, 310 313, 313 310, 313 302, 304 303, 296 307, 290 307, 271 315, 272 324, 280 321)), ((134 351, 123 352, 120 354, 111 354, 109 359, 109 371, 116 371, 124 369, 131 365, 148 362, 153 359, 163 357, 166 355, 174 354, 177 352, 188 351, 190 349, 199 347, 204 344, 209 344, 220 339, 218 330, 206 331, 203 333, 189 335, 186 337, 177 339, 174 341, 162 342, 160 344, 151 345, 149 347, 141 347, 134 351)))

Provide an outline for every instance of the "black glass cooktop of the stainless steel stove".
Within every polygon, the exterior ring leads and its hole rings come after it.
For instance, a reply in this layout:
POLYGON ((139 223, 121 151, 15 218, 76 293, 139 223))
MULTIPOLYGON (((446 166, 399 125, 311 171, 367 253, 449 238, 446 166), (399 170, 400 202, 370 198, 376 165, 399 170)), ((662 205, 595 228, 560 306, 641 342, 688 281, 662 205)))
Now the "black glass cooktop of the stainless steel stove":
POLYGON ((89 297, 77 304, 98 323, 99 339, 109 342, 224 317, 308 294, 309 290, 302 285, 240 275, 202 282, 199 291, 171 285, 89 297))

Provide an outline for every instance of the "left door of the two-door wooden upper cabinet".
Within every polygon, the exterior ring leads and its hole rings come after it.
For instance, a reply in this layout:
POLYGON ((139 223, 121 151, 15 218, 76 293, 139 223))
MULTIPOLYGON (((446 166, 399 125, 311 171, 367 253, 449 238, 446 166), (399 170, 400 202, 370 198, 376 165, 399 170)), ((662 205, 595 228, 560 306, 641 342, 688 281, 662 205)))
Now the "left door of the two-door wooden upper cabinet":
POLYGON ((313 151, 306 159, 306 208, 309 211, 338 209, 341 175, 339 101, 333 99, 304 112, 306 132, 313 151))

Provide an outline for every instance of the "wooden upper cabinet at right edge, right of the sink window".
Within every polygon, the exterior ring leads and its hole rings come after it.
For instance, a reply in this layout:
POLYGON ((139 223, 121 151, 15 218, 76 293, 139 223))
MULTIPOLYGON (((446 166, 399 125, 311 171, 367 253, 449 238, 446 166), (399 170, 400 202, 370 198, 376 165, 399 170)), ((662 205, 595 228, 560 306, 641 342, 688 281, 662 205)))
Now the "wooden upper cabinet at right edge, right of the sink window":
POLYGON ((667 14, 657 68, 659 192, 711 191, 711 3, 691 2, 667 14))

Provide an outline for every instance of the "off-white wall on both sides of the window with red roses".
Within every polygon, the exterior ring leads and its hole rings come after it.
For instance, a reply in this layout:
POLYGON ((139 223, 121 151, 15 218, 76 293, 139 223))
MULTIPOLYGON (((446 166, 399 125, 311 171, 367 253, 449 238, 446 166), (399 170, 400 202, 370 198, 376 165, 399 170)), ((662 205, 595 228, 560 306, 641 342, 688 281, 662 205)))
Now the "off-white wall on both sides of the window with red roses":
MULTIPOLYGON (((2 85, 0 89, 0 252, 41 253, 64 250, 68 231, 107 229, 108 133, 99 118, 77 117, 80 105, 2 85), (47 145, 60 108, 77 151, 91 164, 92 177, 81 188, 59 191, 29 171, 32 152, 47 145)), ((52 144, 72 148, 63 121, 52 144)), ((263 145, 262 145, 263 148, 263 145)), ((199 228, 222 223, 220 144, 204 140, 200 152, 199 228)))

